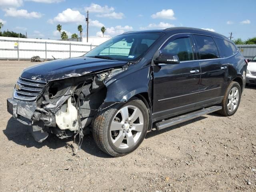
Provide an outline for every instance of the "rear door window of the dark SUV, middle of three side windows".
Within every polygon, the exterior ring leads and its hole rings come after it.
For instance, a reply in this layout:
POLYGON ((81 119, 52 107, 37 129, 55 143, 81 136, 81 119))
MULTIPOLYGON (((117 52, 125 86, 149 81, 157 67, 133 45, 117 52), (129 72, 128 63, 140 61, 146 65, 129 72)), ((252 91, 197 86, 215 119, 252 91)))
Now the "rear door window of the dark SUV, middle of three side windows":
POLYGON ((199 50, 200 59, 219 58, 217 46, 212 37, 204 35, 194 35, 199 50))

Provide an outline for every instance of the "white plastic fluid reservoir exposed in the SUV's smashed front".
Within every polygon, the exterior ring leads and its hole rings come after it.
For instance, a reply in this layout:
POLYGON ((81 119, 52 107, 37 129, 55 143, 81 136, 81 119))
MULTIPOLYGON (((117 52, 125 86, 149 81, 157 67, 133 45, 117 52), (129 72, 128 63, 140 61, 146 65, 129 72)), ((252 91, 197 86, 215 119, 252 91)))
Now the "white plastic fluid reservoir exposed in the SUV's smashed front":
POLYGON ((76 131, 78 128, 78 115, 77 109, 71 103, 71 97, 68 99, 66 112, 58 112, 55 115, 56 124, 61 130, 68 129, 70 131, 76 131))

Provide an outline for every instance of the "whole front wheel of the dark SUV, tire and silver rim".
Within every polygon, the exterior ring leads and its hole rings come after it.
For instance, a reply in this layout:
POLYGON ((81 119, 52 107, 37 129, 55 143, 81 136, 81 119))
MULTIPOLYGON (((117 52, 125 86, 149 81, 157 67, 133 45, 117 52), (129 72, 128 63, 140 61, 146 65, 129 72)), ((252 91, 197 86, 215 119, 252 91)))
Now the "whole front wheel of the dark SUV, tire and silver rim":
POLYGON ((114 157, 124 156, 142 143, 148 124, 146 105, 134 97, 125 104, 115 104, 98 112, 94 118, 93 137, 103 152, 114 157))

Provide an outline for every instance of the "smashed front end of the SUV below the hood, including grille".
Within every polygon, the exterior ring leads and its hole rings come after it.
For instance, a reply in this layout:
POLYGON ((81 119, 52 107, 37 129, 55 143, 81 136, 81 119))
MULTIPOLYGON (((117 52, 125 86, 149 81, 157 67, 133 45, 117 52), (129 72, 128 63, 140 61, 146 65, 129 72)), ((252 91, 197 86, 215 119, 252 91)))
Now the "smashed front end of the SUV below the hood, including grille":
POLYGON ((8 112, 31 126, 30 132, 37 142, 44 141, 48 133, 59 138, 75 134, 79 135, 81 144, 83 135, 89 132, 94 116, 106 99, 106 80, 128 66, 51 81, 20 77, 12 98, 7 99, 8 112))

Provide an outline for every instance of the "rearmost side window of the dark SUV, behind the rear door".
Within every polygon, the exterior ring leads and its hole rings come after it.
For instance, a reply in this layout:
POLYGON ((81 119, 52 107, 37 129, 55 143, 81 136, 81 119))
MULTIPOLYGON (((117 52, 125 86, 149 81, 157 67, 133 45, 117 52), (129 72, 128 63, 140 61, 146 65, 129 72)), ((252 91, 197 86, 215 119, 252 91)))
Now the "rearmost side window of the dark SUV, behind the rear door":
POLYGON ((222 58, 230 57, 237 53, 236 47, 232 43, 215 37, 214 41, 216 42, 218 49, 220 50, 220 55, 222 58))

